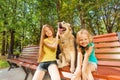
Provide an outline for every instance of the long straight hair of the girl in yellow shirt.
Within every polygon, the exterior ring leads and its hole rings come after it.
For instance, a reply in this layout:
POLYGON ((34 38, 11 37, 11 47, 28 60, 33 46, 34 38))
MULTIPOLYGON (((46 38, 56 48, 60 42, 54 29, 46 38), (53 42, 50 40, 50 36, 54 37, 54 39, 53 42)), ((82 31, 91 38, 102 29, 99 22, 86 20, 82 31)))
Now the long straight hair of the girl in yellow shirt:
POLYGON ((38 62, 40 62, 42 60, 43 56, 44 56, 43 40, 48 37, 48 36, 45 35, 45 27, 48 27, 52 31, 53 36, 54 36, 54 29, 53 29, 53 27, 48 25, 48 24, 43 25, 42 30, 41 30, 41 37, 40 37, 38 62))

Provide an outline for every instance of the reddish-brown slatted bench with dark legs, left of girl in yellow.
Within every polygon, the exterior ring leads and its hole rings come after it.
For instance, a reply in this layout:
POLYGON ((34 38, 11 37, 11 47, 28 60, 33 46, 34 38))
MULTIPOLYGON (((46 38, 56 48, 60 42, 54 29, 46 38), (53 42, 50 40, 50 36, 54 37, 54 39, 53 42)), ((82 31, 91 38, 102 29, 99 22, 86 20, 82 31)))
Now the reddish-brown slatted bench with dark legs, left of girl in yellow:
POLYGON ((37 68, 37 56, 38 56, 39 46, 27 46, 24 47, 22 53, 19 55, 18 58, 12 55, 12 57, 7 58, 8 63, 10 64, 10 68, 13 68, 13 64, 16 64, 23 68, 24 72, 26 73, 25 80, 29 73, 31 72, 34 74, 35 69, 37 68))

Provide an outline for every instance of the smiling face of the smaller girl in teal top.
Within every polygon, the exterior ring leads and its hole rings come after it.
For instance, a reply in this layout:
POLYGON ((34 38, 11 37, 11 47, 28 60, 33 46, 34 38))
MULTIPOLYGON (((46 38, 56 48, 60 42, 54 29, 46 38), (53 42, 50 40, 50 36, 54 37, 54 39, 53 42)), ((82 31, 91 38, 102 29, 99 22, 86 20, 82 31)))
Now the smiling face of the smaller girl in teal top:
POLYGON ((82 47, 86 47, 89 44, 89 38, 88 35, 82 34, 78 38, 78 44, 82 47))

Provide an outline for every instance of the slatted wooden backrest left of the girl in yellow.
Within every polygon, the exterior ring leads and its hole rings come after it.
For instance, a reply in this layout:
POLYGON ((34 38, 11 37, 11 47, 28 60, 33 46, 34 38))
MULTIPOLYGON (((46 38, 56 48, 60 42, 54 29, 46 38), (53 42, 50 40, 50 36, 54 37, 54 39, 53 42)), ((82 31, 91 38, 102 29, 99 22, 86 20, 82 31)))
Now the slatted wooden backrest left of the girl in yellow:
POLYGON ((37 63, 38 52, 39 46, 24 47, 18 59, 22 62, 36 65, 38 64, 37 63))

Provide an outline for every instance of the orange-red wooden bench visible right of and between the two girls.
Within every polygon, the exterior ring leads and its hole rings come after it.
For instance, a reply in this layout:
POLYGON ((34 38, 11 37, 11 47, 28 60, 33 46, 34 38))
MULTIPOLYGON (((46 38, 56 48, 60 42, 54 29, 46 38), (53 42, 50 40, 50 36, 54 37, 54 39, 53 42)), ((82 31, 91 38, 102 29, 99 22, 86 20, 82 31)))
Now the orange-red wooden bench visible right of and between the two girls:
MULTIPOLYGON (((94 36, 98 69, 95 80, 120 80, 120 32, 94 36)), ((71 77, 69 67, 60 69, 63 77, 71 77)))

